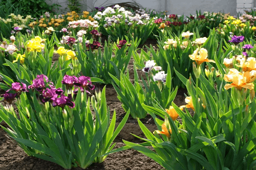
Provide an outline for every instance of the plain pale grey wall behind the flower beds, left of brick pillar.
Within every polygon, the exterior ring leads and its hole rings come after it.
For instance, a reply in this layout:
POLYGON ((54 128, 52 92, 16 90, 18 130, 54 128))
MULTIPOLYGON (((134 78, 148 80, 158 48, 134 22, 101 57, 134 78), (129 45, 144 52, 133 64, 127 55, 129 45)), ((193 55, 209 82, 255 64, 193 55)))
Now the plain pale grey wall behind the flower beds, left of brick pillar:
MULTIPOLYGON (((67 7, 66 0, 51 0, 49 3, 59 3, 64 9, 67 7)), ((107 6, 109 4, 123 3, 131 0, 80 0, 82 11, 90 11, 94 7, 107 6), (86 6, 87 4, 87 6, 86 6)), ((236 15, 236 0, 134 0, 141 6, 147 9, 155 9, 156 11, 168 11, 167 14, 178 14, 188 16, 195 15, 196 10, 210 12, 230 12, 231 15, 236 15)), ((64 10, 64 13, 67 11, 64 10)))

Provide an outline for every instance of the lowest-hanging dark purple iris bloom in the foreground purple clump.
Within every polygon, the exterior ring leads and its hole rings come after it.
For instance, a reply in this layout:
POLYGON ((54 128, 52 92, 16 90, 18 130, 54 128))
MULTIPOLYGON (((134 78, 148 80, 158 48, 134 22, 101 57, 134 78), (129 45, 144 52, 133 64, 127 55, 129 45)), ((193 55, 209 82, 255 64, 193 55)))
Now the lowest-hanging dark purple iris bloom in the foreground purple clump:
POLYGON ((72 100, 71 94, 68 94, 68 96, 64 96, 63 94, 61 94, 60 97, 52 99, 52 106, 53 107, 59 106, 63 109, 65 105, 67 105, 70 108, 74 108, 75 103, 72 102, 71 100, 72 100))

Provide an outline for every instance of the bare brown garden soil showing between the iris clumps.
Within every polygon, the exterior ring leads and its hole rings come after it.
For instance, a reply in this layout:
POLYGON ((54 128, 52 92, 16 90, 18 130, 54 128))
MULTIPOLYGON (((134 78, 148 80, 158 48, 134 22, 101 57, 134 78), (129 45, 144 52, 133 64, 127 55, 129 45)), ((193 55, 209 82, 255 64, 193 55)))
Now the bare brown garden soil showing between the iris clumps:
MULTIPOLYGON (((153 40, 153 42, 155 42, 153 40)), ((148 42, 152 43, 151 42, 148 42)), ((146 45, 148 45, 146 44, 146 45)), ((156 44, 156 43, 154 43, 156 44)), ((157 45, 154 45, 157 46, 157 45)), ((57 59, 58 57, 55 57, 57 59)), ((130 73, 131 82, 134 82, 134 68, 133 60, 128 65, 128 70, 130 73)), ((138 70, 138 74, 143 75, 142 71, 138 70)), ((96 85, 97 88, 102 90, 103 85, 96 85)), ((3 91, 0 91, 3 94, 3 91)), ((93 94, 93 93, 92 93, 93 94)), ((186 89, 179 89, 177 96, 175 98, 175 104, 177 106, 184 105, 186 89)), ((112 85, 106 86, 106 99, 107 105, 110 108, 111 118, 114 110, 116 111, 116 127, 122 118, 125 116, 125 111, 122 108, 122 103, 117 99, 117 94, 112 85)), ((15 105, 13 104, 14 108, 15 105)), ((16 108, 17 110, 17 108, 16 108)), ((146 116, 145 119, 141 119, 143 124, 151 131, 157 130, 157 126, 154 124, 154 120, 150 115, 146 116)), ((8 127, 5 122, 2 122, 1 125, 8 127)), ((126 140, 134 143, 142 143, 144 141, 131 135, 135 134, 142 138, 145 138, 142 130, 137 123, 136 119, 133 119, 129 116, 125 126, 116 137, 115 148, 122 147, 125 144, 122 143, 122 140, 126 140)), ((153 150, 152 147, 148 147, 153 150)), ((93 163, 86 170, 162 170, 163 167, 155 162, 153 159, 148 158, 142 153, 137 152, 136 150, 124 150, 117 153, 110 154, 104 162, 100 164, 93 163)), ((28 156, 1 127, 0 127, 0 170, 64 170, 64 168, 59 165, 38 159, 32 156, 28 156)), ((82 170, 81 168, 73 168, 72 170, 82 170)))

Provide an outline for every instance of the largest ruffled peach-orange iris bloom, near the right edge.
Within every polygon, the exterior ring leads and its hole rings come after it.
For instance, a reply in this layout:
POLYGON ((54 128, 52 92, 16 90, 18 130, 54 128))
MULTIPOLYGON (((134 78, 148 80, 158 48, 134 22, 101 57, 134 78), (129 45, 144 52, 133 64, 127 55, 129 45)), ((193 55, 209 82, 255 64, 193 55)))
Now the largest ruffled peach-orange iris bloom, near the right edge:
POLYGON ((224 80, 226 82, 232 82, 231 84, 226 84, 224 88, 227 90, 229 88, 237 88, 238 90, 242 90, 242 88, 248 88, 252 90, 254 88, 254 84, 251 83, 255 80, 255 76, 253 74, 250 75, 249 71, 244 73, 240 73, 235 68, 230 69, 228 74, 224 75, 224 80))

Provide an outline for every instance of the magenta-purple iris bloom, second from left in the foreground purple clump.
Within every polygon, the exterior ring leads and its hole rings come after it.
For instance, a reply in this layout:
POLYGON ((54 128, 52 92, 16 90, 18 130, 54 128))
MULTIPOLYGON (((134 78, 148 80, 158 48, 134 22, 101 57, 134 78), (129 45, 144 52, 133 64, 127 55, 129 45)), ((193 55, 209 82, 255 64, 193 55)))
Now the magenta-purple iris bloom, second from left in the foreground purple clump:
POLYGON ((32 81, 33 84, 29 85, 28 88, 32 88, 32 89, 35 89, 37 91, 43 91, 45 89, 44 78, 49 83, 50 88, 54 88, 53 83, 50 82, 48 77, 45 76, 44 74, 37 75, 37 78, 33 79, 33 81, 32 81))

